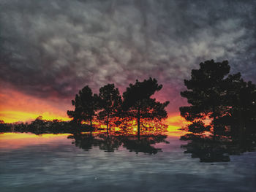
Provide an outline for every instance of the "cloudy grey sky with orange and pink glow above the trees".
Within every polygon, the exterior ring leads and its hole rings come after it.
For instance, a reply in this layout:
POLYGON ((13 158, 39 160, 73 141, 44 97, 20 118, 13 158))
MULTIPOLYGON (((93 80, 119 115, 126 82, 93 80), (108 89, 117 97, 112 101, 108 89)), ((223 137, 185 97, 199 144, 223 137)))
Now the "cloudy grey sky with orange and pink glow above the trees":
POLYGON ((0 0, 0 119, 67 120, 85 85, 154 77, 179 122, 184 79, 228 60, 256 82, 256 1, 0 0))

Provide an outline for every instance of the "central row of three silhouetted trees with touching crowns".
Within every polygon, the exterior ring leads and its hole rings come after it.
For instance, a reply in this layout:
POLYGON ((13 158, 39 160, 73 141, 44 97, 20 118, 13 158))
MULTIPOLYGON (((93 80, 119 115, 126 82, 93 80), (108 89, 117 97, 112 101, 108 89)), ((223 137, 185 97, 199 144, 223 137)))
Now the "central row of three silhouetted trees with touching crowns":
POLYGON ((107 132, 110 123, 118 126, 136 120, 139 136, 143 121, 160 121, 167 118, 165 107, 169 101, 161 103, 151 98, 161 89, 162 85, 151 77, 142 82, 136 80, 135 84, 129 84, 122 97, 114 84, 99 88, 98 94, 92 93, 87 85, 76 94, 72 100, 75 110, 67 111, 67 115, 78 125, 87 122, 92 127, 94 121, 105 123, 107 132))

